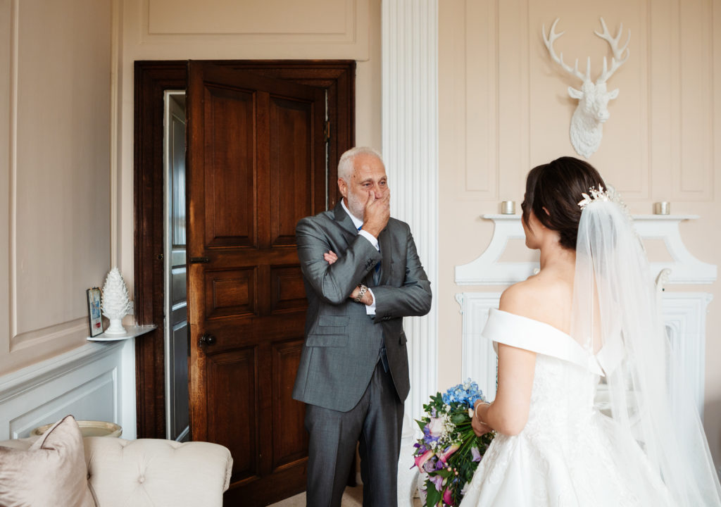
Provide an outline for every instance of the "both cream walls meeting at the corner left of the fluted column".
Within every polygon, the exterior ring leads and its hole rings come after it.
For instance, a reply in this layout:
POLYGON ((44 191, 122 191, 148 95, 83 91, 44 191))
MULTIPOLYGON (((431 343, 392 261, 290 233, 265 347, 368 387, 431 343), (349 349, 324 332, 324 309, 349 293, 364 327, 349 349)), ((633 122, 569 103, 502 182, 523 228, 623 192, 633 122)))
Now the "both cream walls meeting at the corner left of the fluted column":
POLYGON ((356 139, 379 147, 380 17, 380 0, 0 1, 0 375, 86 343, 85 289, 111 265, 132 294, 133 61, 355 59, 356 139))

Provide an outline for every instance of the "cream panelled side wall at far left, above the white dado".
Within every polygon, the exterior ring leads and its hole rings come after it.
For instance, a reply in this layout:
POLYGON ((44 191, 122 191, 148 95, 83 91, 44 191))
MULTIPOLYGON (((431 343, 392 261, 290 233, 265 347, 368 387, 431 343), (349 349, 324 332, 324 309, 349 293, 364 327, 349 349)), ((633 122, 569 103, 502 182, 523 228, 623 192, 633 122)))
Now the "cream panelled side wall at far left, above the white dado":
POLYGON ((86 343, 110 268, 110 0, 0 1, 0 374, 86 343))

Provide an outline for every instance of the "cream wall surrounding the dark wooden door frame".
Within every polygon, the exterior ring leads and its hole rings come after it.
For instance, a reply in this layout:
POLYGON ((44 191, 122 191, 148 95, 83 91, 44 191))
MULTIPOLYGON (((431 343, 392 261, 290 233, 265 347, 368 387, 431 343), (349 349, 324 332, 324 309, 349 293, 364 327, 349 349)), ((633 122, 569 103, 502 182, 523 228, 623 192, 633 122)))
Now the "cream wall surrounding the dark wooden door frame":
POLYGON ((356 144, 380 148, 380 0, 127 0, 121 5, 112 123, 118 128, 113 164, 118 207, 112 238, 128 291, 133 290, 133 61, 355 59, 356 144))

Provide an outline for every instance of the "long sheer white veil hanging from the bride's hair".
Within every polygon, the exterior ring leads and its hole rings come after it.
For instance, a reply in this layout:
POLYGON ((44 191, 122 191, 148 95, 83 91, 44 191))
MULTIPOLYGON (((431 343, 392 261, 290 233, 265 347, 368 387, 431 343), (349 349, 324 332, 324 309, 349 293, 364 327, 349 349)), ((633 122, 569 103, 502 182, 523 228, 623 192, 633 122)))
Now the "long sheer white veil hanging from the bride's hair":
MULTIPOLYGON (((605 374, 597 407, 634 436, 673 505, 721 506, 721 486, 691 390, 679 399, 668 394, 670 382, 681 380, 668 374, 671 348, 632 219, 613 190, 585 197, 570 334, 605 374)), ((622 449, 616 463, 634 462, 633 447, 622 449)), ((642 470, 625 470, 642 479, 642 470)))

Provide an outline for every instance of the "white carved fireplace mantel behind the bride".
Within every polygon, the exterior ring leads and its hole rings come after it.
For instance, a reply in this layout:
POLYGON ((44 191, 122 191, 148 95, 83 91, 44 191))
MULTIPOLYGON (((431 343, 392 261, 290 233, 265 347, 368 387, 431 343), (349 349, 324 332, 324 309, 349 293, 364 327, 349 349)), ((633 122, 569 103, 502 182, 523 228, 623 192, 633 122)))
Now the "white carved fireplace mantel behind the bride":
MULTIPOLYGON (((476 260, 456 266, 459 285, 508 286, 525 280, 534 273, 534 262, 503 262, 500 260, 508 242, 523 239, 519 215, 483 215, 492 220, 495 230, 490 245, 476 260)), ((635 215, 634 224, 642 239, 661 239, 671 260, 650 263, 651 273, 660 282, 704 284, 717 277, 717 267, 703 263, 684 245, 679 225, 695 220, 696 215, 635 215), (662 273, 663 272, 663 273, 662 273)), ((492 344, 482 337, 482 330, 491 308, 497 308, 500 292, 463 292, 456 301, 463 314, 463 360, 461 379, 476 379, 489 400, 495 397, 496 356, 492 344)), ((690 387, 699 413, 704 407, 704 365, 706 314, 712 295, 705 292, 660 292, 661 311, 673 349, 671 375, 673 386, 690 387), (684 382, 679 382, 683 380, 684 382)), ((681 388, 672 389, 672 396, 681 396, 681 388)))

